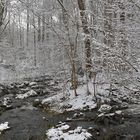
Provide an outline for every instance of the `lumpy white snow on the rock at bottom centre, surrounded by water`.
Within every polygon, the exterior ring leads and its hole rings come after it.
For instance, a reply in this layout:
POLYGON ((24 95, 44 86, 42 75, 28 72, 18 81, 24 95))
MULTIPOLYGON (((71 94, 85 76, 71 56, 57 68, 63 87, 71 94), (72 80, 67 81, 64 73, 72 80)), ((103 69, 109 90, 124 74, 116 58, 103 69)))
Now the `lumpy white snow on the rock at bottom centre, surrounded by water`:
POLYGON ((47 131, 46 135, 48 136, 49 140, 87 140, 92 136, 87 132, 86 129, 82 129, 82 127, 77 127, 74 130, 69 129, 69 125, 60 126, 58 128, 51 128, 47 131))

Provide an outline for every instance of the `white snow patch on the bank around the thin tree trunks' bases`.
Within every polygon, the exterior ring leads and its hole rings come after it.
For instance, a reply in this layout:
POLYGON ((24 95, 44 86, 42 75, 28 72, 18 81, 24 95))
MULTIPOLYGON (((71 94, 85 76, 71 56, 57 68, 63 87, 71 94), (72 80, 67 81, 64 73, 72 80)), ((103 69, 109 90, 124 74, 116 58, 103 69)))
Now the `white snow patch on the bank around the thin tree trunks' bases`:
MULTIPOLYGON (((90 86, 91 87, 91 86, 90 86)), ((93 89, 91 88, 91 93, 93 89)), ((96 107, 96 103, 93 101, 93 94, 87 95, 86 85, 80 86, 77 89, 78 96, 75 97, 73 90, 70 90, 70 95, 67 100, 62 102, 61 98, 64 96, 62 93, 54 95, 52 97, 46 98, 42 100, 42 104, 53 104, 57 102, 57 107, 61 110, 64 106, 72 106, 71 108, 65 108, 67 111, 79 109, 82 110, 84 107, 89 107, 89 109, 93 109, 96 107)), ((60 111, 59 110, 59 111, 60 111)), ((62 109, 63 110, 63 109, 62 109)), ((56 109, 58 111, 58 108, 56 109)))

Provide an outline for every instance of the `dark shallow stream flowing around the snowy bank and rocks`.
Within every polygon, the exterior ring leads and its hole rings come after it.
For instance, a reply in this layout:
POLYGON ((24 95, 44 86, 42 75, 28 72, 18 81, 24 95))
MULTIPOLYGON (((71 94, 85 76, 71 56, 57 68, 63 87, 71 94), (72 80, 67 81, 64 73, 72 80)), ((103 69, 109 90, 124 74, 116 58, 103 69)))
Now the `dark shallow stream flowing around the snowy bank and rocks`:
POLYGON ((92 134, 91 140, 140 140, 140 103, 129 105, 129 108, 122 110, 123 115, 120 116, 97 121, 98 111, 95 109, 83 111, 84 117, 68 120, 67 118, 73 118, 75 113, 81 111, 58 114, 33 107, 35 99, 51 95, 52 93, 47 92, 43 95, 16 99, 14 92, 3 94, 0 99, 10 98, 12 107, 3 111, 4 107, 0 106, 0 123, 9 122, 10 126, 10 129, 0 134, 0 140, 47 140, 46 130, 59 122, 66 122, 72 129, 82 126, 92 134))

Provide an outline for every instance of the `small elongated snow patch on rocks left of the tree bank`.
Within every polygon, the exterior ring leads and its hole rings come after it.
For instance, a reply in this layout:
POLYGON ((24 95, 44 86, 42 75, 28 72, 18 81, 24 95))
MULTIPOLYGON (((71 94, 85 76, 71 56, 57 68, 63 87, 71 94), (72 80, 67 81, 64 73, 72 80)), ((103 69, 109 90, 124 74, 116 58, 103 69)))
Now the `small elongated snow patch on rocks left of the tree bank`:
POLYGON ((17 94, 16 98, 24 99, 24 98, 28 98, 28 97, 34 96, 34 95, 37 95, 37 93, 34 90, 30 90, 30 91, 26 92, 25 94, 17 94))

